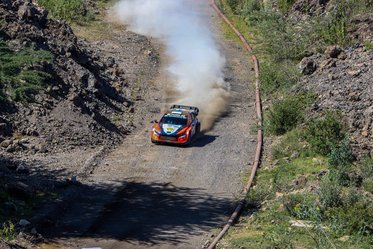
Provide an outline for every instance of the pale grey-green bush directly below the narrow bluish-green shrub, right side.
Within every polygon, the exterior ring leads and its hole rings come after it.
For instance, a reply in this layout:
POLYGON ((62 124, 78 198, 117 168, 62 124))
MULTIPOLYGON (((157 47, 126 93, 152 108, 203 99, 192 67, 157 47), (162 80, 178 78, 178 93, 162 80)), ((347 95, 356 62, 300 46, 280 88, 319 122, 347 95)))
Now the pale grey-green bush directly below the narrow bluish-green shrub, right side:
POLYGON ((320 181, 319 205, 322 212, 342 205, 341 187, 329 177, 323 177, 320 181))

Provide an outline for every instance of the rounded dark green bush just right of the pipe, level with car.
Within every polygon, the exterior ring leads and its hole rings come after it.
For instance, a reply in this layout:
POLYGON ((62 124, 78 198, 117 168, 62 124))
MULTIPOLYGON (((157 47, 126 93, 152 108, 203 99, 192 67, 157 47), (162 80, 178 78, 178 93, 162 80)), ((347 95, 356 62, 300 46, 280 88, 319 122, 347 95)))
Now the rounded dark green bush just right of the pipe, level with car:
POLYGON ((281 135, 291 130, 303 118, 303 102, 297 96, 283 96, 273 101, 268 113, 268 130, 272 134, 281 135))

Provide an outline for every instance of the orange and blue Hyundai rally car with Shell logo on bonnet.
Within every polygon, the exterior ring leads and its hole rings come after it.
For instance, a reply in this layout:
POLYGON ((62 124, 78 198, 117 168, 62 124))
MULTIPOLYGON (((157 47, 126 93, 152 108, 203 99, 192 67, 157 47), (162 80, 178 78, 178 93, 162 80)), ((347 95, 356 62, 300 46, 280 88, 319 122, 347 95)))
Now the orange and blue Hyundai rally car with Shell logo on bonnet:
POLYGON ((198 108, 193 106, 173 105, 151 129, 153 143, 173 143, 188 145, 200 133, 201 122, 198 121, 198 108))

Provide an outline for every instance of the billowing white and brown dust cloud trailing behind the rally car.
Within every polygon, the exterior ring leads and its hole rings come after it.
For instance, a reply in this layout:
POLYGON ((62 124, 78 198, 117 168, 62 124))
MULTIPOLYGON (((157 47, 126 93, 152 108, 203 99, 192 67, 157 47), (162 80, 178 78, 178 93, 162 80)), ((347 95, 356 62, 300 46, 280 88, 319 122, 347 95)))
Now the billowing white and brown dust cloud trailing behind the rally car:
POLYGON ((197 106, 201 129, 209 130, 226 110, 230 85, 224 80, 225 59, 190 0, 122 0, 118 18, 138 34, 161 39, 172 58, 167 71, 176 78, 180 99, 197 106))

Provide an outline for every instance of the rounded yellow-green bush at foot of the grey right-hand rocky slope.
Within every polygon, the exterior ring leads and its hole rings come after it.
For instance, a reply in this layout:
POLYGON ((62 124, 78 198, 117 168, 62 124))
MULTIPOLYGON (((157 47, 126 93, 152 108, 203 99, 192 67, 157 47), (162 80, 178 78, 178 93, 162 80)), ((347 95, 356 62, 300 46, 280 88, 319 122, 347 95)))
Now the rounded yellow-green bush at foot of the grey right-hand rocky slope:
POLYGON ((331 147, 337 147, 345 137, 342 118, 339 112, 326 111, 318 118, 307 119, 305 140, 314 150, 326 155, 331 147))

